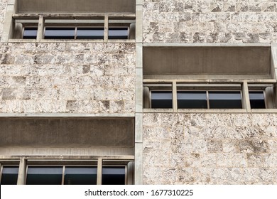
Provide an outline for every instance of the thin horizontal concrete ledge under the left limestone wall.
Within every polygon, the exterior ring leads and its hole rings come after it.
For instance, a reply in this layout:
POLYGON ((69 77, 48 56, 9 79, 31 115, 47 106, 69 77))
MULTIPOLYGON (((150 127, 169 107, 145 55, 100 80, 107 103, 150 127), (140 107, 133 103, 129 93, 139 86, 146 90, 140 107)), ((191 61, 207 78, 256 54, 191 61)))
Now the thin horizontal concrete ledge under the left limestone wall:
POLYGON ((68 117, 68 118, 74 118, 74 117, 135 117, 134 113, 109 113, 109 114, 82 114, 82 113, 0 113, 0 118, 5 117, 24 117, 24 118, 33 118, 33 117, 51 117, 51 118, 60 118, 60 117, 68 117))

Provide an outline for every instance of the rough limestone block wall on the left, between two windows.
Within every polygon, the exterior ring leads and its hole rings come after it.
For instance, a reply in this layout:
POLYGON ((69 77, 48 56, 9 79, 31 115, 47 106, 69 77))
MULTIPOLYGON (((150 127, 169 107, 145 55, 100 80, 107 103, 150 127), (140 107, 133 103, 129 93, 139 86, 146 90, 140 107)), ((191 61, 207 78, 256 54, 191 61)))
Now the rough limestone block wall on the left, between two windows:
POLYGON ((0 43, 0 112, 129 113, 131 43, 0 43))

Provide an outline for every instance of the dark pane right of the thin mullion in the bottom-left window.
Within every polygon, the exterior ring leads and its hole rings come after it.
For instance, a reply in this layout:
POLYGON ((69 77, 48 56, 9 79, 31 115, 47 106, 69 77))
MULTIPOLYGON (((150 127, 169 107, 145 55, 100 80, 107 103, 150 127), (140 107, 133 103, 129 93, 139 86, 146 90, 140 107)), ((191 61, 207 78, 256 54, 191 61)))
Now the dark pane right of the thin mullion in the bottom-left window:
POLYGON ((65 185, 96 185, 97 167, 66 167, 65 185))

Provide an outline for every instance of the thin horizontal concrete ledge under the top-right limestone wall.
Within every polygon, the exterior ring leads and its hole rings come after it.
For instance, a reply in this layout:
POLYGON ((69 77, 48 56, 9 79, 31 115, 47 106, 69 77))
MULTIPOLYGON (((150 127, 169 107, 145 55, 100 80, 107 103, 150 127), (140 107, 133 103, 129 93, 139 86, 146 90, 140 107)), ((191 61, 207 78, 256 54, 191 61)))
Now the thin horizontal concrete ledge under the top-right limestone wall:
POLYGON ((270 47, 271 43, 143 43, 144 47, 270 47))

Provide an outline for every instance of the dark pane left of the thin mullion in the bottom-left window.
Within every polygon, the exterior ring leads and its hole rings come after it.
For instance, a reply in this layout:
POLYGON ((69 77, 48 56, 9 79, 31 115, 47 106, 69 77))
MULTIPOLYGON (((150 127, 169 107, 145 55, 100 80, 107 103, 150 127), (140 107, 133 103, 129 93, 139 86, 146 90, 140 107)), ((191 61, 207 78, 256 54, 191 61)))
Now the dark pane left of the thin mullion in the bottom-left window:
POLYGON ((61 185, 63 167, 29 166, 26 185, 61 185))

